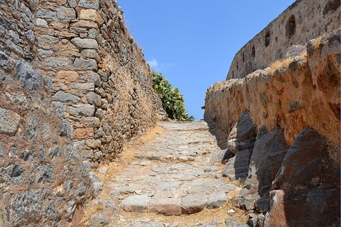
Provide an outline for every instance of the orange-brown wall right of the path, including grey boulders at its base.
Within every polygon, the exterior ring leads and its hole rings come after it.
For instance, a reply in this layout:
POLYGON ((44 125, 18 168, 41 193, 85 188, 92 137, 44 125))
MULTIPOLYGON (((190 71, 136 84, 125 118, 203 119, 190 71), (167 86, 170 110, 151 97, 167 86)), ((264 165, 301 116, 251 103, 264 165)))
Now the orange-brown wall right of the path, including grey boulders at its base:
POLYGON ((249 163, 233 205, 251 226, 339 226, 340 29, 291 56, 210 87, 205 120, 235 153, 225 175, 249 163))

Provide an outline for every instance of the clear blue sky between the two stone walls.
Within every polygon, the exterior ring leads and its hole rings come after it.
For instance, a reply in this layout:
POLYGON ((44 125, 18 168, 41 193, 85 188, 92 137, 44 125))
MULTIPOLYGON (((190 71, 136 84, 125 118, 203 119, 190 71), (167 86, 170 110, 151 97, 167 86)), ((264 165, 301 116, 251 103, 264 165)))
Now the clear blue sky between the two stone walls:
POLYGON ((293 0, 118 0, 151 67, 185 97, 196 120, 210 85, 226 78, 234 54, 293 0))

